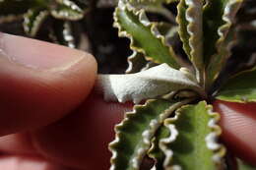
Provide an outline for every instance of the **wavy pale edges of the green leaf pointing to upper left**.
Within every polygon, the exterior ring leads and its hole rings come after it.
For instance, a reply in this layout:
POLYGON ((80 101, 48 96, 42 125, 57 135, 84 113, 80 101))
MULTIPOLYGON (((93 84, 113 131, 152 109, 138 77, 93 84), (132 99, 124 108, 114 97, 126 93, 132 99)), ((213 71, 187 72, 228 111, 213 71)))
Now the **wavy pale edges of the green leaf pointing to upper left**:
POLYGON ((114 23, 113 23, 113 27, 114 28, 118 28, 118 36, 120 37, 127 37, 130 39, 130 49, 132 49, 133 51, 137 51, 140 53, 143 53, 145 55, 145 58, 148 61, 153 61, 155 63, 160 64, 159 60, 156 60, 150 56, 147 56, 146 51, 138 46, 134 45, 134 39, 133 36, 128 33, 126 30, 124 30, 118 23, 118 17, 117 17, 117 10, 128 10, 129 12, 132 12, 134 15, 136 15, 139 18, 140 23, 147 27, 147 28, 151 28, 151 33, 158 39, 160 39, 161 43, 163 46, 168 47, 169 48, 169 52, 170 55, 173 56, 173 59, 178 63, 178 57, 176 56, 176 54, 174 53, 174 50, 165 44, 166 40, 165 37, 163 35, 160 34, 160 31, 157 28, 157 24, 156 23, 152 23, 149 21, 148 17, 146 16, 146 12, 144 9, 136 9, 134 8, 132 5, 130 5, 129 3, 124 3, 122 0, 119 1, 118 3, 118 7, 116 8, 114 14, 113 14, 113 18, 114 18, 114 23))

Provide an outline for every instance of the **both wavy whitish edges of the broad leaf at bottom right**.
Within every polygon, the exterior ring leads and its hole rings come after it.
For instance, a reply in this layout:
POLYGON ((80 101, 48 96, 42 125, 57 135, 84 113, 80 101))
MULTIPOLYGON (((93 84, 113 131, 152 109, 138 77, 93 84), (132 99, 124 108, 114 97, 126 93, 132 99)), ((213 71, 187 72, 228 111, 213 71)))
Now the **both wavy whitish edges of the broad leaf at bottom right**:
MULTIPOLYGON (((211 119, 208 122, 208 127, 212 129, 212 133, 207 135, 205 138, 207 147, 210 150, 213 150, 215 154, 213 155, 212 159, 216 163, 218 167, 222 166, 222 158, 225 155, 225 147, 223 144, 218 142, 218 139, 221 137, 222 129, 218 125, 218 122, 221 119, 219 113, 213 111, 213 106, 208 105, 205 101, 203 101, 206 105, 206 109, 208 110, 207 113, 211 116, 211 119)), ((163 167, 165 169, 181 169, 179 165, 170 165, 172 161, 173 151, 168 148, 167 144, 171 142, 175 142, 176 138, 178 137, 178 131, 176 130, 175 126, 172 125, 173 122, 178 120, 179 115, 181 114, 181 110, 189 105, 183 105, 179 109, 175 111, 175 116, 173 118, 168 118, 164 121, 164 126, 169 130, 170 136, 166 139, 160 140, 160 149, 165 154, 165 159, 163 162, 163 167)), ((175 153, 174 153, 175 154, 175 153)))

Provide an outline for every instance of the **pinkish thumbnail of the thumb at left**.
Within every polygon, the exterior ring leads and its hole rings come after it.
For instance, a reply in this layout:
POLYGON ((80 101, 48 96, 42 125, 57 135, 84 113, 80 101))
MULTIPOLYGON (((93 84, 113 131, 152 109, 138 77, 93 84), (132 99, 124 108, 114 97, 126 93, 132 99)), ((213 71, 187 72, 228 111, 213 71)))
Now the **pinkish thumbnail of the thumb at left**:
POLYGON ((0 58, 39 70, 66 70, 87 56, 86 53, 21 36, 0 32, 0 58))

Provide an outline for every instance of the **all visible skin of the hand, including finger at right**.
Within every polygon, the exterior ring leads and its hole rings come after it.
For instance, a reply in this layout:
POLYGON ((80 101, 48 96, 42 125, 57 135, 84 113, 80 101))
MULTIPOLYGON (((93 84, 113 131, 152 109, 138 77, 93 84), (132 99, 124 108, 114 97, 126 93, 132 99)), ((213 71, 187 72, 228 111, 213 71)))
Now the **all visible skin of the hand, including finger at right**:
MULTIPOLYGON (((107 143, 132 104, 94 92, 94 57, 2 33, 0 49, 0 169, 108 169, 107 143)), ((224 142, 255 162, 256 119, 235 113, 222 115, 224 142)))

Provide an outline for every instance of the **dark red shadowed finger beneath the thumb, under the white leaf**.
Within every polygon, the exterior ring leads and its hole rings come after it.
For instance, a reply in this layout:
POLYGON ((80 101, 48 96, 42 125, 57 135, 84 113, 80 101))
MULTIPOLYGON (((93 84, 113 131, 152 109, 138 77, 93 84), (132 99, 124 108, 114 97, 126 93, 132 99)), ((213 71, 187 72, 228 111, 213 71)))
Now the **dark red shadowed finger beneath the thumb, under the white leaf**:
POLYGON ((114 126, 131 103, 107 103, 91 94, 73 114, 32 135, 34 148, 42 155, 67 166, 84 169, 108 169, 114 140, 114 126), (100 162, 100 163, 98 163, 100 162))

